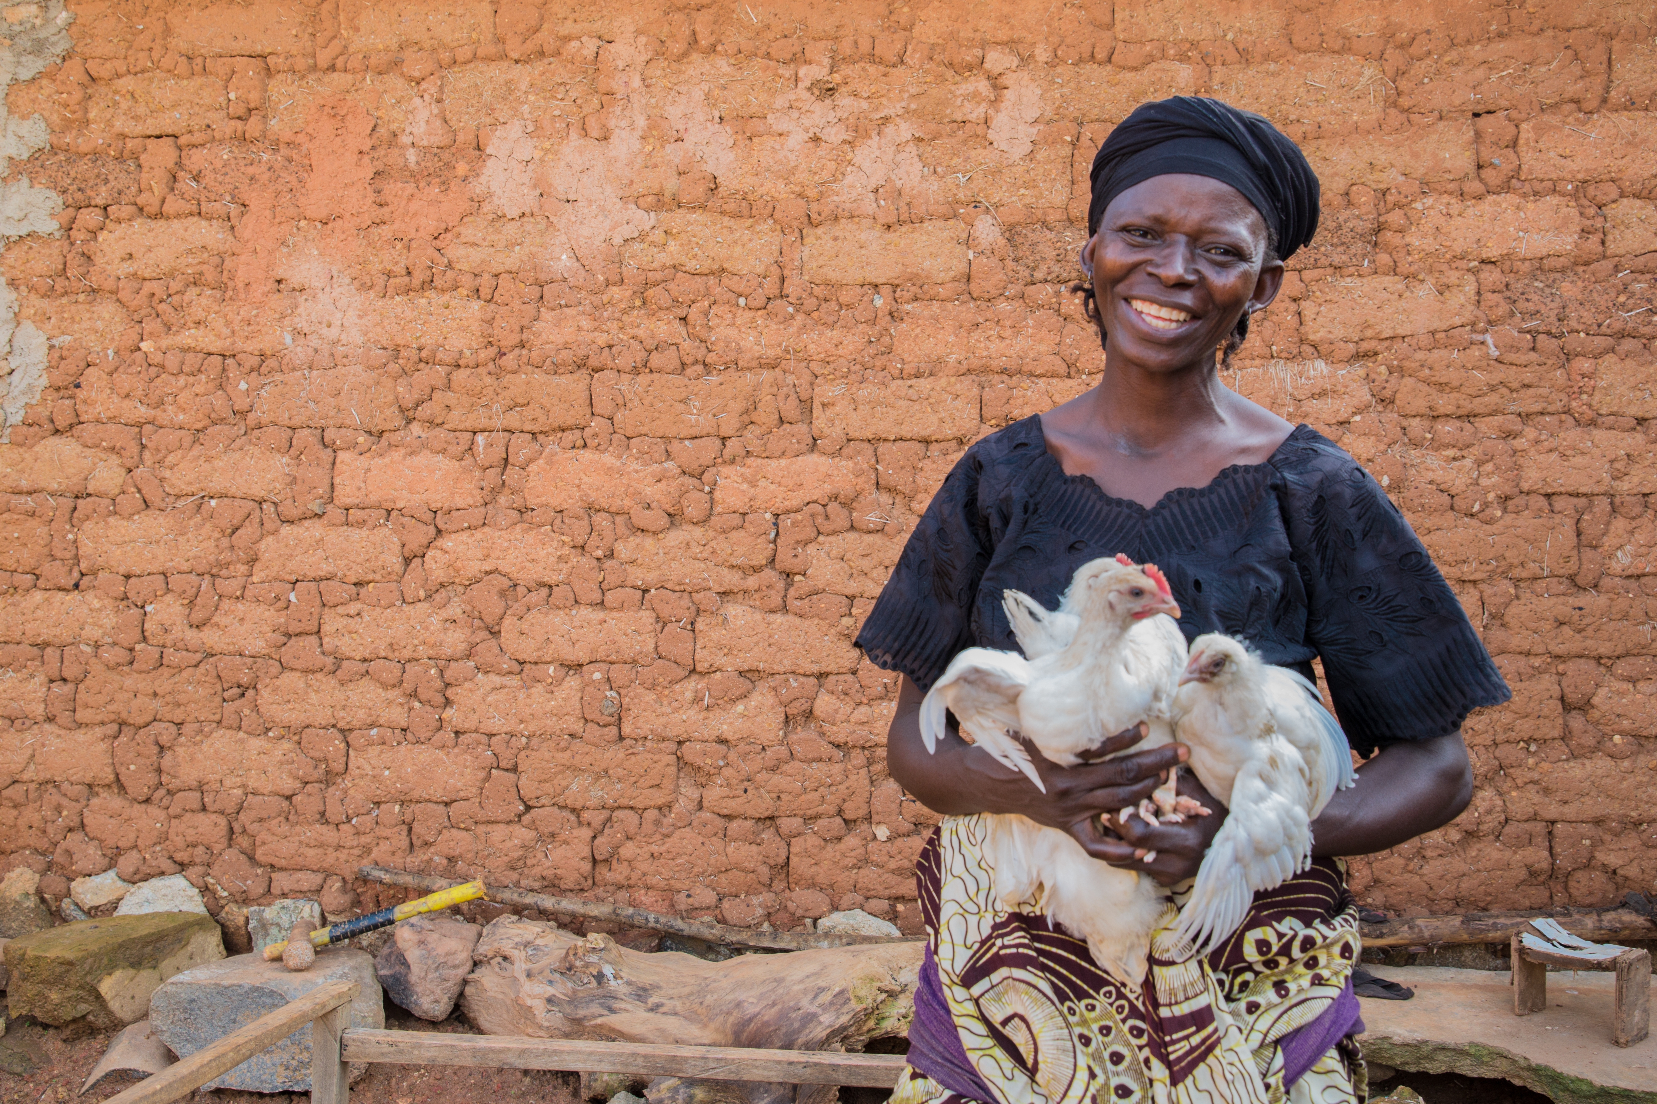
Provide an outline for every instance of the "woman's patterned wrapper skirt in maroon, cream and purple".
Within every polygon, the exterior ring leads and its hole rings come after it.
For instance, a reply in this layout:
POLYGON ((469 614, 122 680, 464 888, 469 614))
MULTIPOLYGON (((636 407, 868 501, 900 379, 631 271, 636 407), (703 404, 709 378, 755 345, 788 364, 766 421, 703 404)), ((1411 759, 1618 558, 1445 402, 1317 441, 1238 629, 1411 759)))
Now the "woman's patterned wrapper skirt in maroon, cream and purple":
POLYGON ((1158 930, 1135 988, 1046 917, 994 900, 984 829, 979 816, 944 819, 916 866, 930 953, 893 1104, 1365 1097, 1357 905, 1339 861, 1258 894, 1208 957, 1158 930))

